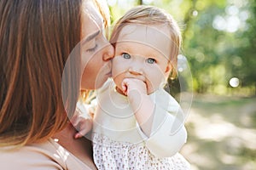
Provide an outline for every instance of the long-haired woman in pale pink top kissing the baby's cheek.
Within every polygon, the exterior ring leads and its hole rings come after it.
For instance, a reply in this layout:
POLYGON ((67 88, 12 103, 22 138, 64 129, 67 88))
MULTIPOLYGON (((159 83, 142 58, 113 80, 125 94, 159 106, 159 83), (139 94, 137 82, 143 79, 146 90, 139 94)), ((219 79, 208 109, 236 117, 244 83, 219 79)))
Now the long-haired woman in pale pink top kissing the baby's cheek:
POLYGON ((104 7, 96 0, 0 1, 1 169, 96 168, 90 141, 73 139, 67 113, 81 89, 109 77, 104 7), (66 65, 73 48, 79 54, 66 65))

